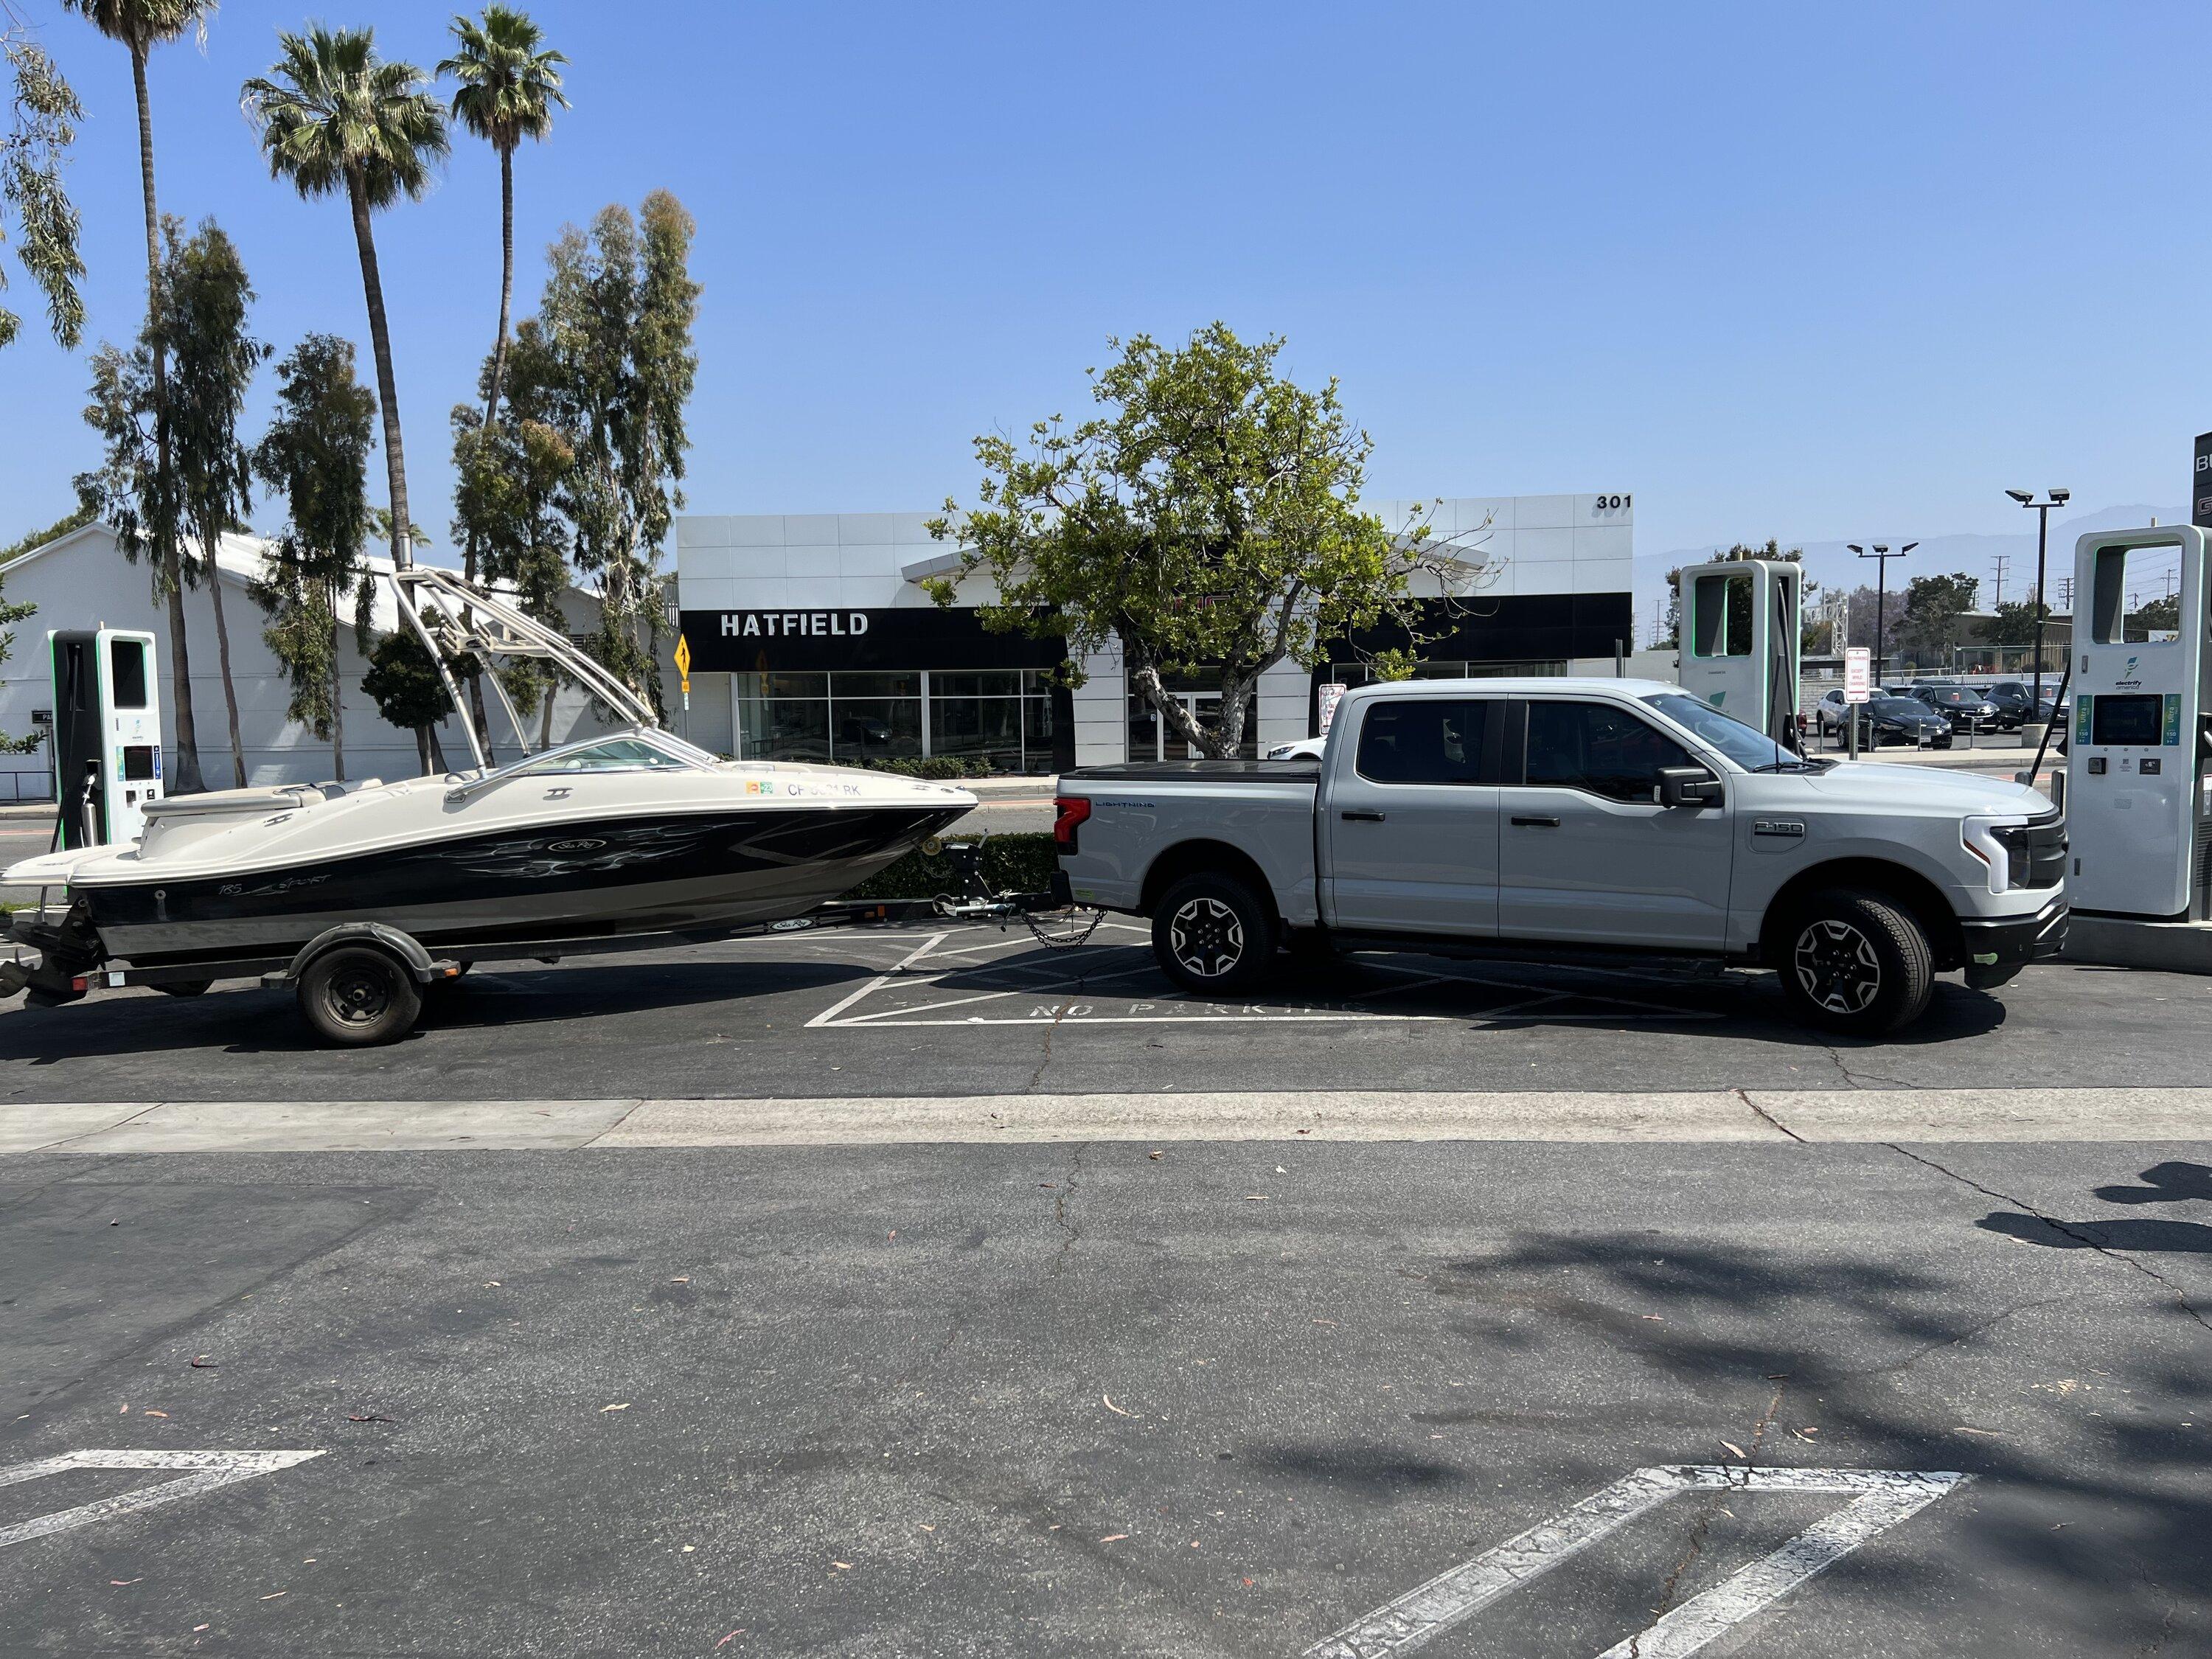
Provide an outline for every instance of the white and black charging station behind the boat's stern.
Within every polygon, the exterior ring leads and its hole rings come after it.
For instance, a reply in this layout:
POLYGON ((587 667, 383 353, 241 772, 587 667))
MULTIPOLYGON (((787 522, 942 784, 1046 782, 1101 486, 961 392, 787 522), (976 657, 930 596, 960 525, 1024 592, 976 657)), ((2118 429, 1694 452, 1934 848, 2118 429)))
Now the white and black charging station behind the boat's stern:
POLYGON ((137 841, 161 799, 161 690, 150 633, 46 635, 53 664, 53 799, 62 845, 137 841))

